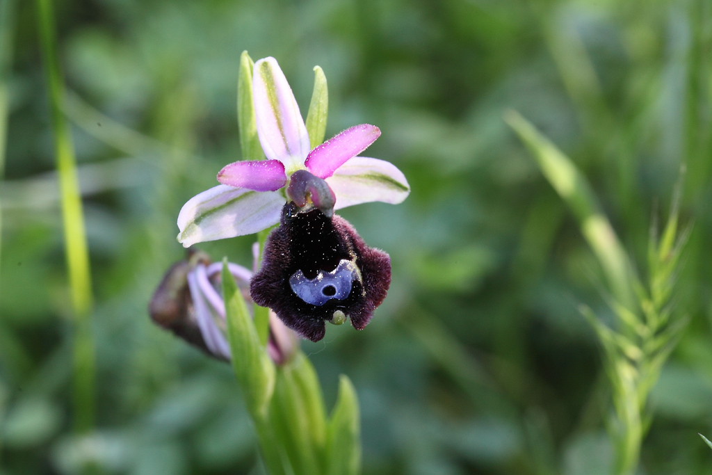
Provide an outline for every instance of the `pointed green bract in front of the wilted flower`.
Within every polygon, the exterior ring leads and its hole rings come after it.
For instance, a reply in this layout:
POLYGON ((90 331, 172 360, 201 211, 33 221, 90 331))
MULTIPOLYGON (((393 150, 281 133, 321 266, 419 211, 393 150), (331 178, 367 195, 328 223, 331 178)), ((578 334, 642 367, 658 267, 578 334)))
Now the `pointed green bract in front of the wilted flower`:
POLYGON ((253 418, 263 417, 274 391, 274 364, 260 344, 245 299, 227 268, 227 259, 223 261, 222 281, 232 367, 248 410, 253 418))

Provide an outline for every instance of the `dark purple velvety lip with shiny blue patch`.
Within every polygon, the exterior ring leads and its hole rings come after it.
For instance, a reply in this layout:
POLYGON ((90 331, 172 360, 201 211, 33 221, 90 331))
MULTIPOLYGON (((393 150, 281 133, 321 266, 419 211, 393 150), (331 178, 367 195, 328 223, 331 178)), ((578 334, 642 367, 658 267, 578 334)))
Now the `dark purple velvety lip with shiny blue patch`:
POLYGON ((390 283, 388 254, 367 246, 345 219, 317 208, 301 212, 290 202, 266 242, 250 293, 289 328, 318 341, 325 321, 343 315, 357 330, 365 328, 390 283))

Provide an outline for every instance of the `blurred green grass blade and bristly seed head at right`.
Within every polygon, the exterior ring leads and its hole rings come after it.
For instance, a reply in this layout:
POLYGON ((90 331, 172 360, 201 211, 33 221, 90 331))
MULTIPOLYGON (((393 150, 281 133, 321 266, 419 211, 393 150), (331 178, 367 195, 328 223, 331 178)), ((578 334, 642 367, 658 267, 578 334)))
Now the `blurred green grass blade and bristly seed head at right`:
POLYGON ((577 216, 581 233, 609 277, 614 294, 609 306, 617 317, 617 330, 609 328, 589 307, 581 306, 580 311, 598 335, 613 388, 615 473, 633 474, 651 422, 649 393, 688 323, 686 317, 671 319, 674 276, 679 272, 682 248, 689 236, 689 232, 680 234, 678 229, 679 190, 673 198, 662 239, 658 239, 655 226, 651 227, 649 283, 645 288, 629 270, 629 257, 600 211, 590 185, 571 160, 517 113, 509 113, 507 120, 537 157, 545 177, 577 216), (629 292, 633 289, 637 303, 630 301, 629 292))

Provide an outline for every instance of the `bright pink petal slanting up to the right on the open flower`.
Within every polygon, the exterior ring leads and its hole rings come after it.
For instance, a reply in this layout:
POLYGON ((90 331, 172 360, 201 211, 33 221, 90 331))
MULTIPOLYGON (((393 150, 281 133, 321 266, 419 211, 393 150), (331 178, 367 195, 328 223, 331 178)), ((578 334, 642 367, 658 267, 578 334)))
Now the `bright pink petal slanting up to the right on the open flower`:
POLYGON ((328 178, 346 160, 366 150, 379 135, 381 130, 375 125, 354 125, 309 152, 305 165, 317 177, 328 178))

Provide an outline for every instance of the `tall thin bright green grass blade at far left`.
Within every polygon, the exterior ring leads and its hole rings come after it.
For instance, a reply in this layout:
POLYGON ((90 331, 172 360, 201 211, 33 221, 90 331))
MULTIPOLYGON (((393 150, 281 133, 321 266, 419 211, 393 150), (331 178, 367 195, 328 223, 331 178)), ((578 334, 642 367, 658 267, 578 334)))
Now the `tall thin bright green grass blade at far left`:
POLYGON ((93 307, 89 251, 70 129, 63 115, 64 83, 56 51, 51 0, 36 0, 41 47, 49 92, 54 147, 61 190, 62 219, 75 319, 75 428, 85 431, 94 419, 94 343, 89 314, 93 307))

